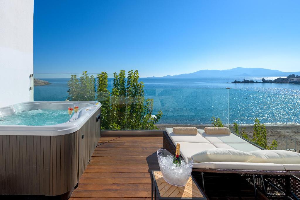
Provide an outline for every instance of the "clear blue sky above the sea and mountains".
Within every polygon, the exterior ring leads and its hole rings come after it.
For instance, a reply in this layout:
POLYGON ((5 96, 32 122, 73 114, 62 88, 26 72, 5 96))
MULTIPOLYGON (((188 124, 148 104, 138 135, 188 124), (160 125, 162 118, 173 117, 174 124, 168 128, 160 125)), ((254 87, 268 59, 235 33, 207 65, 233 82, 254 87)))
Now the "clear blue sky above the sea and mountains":
POLYGON ((35 73, 300 69, 300 1, 35 0, 35 73))

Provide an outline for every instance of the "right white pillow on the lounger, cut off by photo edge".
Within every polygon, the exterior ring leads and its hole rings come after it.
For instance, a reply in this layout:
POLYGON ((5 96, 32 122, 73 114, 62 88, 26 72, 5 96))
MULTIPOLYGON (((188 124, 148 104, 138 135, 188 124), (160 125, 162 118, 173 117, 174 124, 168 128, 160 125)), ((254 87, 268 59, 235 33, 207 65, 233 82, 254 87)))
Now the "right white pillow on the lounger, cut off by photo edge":
POLYGON ((255 158, 251 163, 300 164, 300 154, 285 150, 256 150, 250 151, 255 158))

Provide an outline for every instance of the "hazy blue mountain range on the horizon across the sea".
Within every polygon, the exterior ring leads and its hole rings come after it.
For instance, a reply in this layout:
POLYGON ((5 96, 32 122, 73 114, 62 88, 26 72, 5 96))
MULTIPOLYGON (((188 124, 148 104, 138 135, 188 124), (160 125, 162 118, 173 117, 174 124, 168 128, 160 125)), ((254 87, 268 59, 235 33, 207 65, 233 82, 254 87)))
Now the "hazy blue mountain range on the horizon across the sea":
MULTIPOLYGON (((300 72, 282 72, 279 70, 268 70, 264 68, 236 67, 231 70, 199 70, 193 73, 185 73, 174 76, 163 76, 164 78, 195 78, 195 77, 247 77, 247 76, 288 76, 300 74, 300 72)), ((150 78, 150 77, 149 77, 150 78)), ((154 76, 151 78, 155 78, 154 76)))

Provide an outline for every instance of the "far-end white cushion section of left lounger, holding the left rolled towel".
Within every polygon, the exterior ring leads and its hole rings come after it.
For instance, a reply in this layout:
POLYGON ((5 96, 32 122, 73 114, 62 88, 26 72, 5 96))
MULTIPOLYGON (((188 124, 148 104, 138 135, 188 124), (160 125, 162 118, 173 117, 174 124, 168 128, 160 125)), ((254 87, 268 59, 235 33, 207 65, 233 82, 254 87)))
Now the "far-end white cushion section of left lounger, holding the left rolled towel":
POLYGON ((175 142, 199 142, 199 143, 210 143, 207 139, 202 137, 199 133, 196 135, 188 134, 174 134, 172 128, 166 128, 173 143, 175 142))

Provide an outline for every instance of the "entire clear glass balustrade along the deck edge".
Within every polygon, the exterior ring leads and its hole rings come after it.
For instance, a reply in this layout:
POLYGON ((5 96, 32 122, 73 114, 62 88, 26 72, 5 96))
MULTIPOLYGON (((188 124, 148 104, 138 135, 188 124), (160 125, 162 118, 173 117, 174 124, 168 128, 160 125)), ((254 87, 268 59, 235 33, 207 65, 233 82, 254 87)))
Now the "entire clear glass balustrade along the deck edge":
MULTIPOLYGON (((176 84, 156 87, 153 81, 144 87, 134 83, 128 87, 125 82, 114 87, 113 73, 107 73, 107 79, 102 82, 98 74, 34 74, 34 100, 100 101, 102 128, 108 130, 163 130, 175 126, 203 129, 213 126, 215 118, 232 132, 238 130, 238 134, 253 140, 258 119, 265 125, 268 147, 276 140, 278 149, 300 149, 297 91, 285 94, 265 92, 263 88, 193 88, 190 85, 187 88, 176 84)), ((115 75, 118 77, 118 73, 115 75)))

